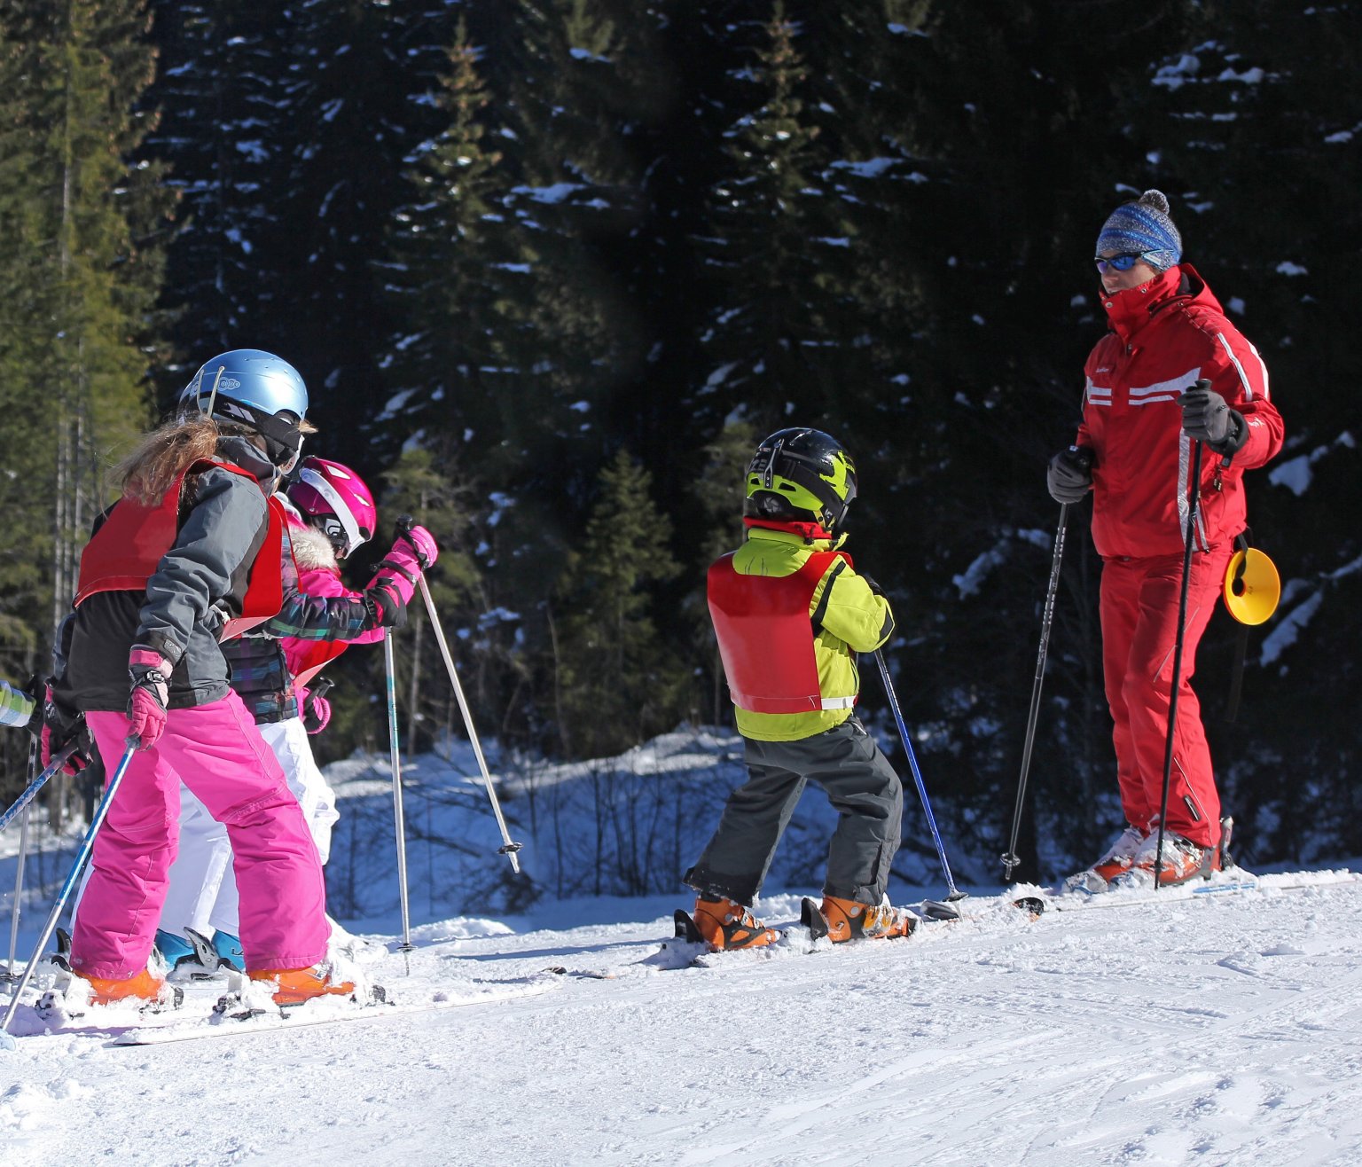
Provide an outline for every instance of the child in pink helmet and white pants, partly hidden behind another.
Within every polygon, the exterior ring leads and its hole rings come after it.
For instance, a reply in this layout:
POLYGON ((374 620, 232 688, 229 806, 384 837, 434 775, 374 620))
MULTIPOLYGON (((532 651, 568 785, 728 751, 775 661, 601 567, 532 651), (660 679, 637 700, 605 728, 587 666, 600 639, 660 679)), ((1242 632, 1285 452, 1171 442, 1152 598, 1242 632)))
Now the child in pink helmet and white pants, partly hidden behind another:
MULTIPOLYGON (((297 474, 298 481, 283 496, 291 550, 285 556, 283 606, 276 617, 225 645, 225 652, 232 663, 232 688, 279 760, 326 865, 331 828, 339 816, 308 735, 326 727, 331 709, 324 696, 306 686, 349 644, 379 641, 384 628, 402 622, 415 580, 436 561, 439 549, 429 531, 413 527, 394 542, 368 588, 350 591, 340 581, 338 560, 373 537, 373 494, 358 474, 339 462, 306 458, 297 474)), ((170 867, 170 892, 157 931, 157 948, 170 967, 196 955, 187 940, 191 931, 211 944, 210 967, 241 965, 232 843, 222 825, 185 790, 180 855, 170 867)), ((207 953, 197 955, 204 963, 207 953)))

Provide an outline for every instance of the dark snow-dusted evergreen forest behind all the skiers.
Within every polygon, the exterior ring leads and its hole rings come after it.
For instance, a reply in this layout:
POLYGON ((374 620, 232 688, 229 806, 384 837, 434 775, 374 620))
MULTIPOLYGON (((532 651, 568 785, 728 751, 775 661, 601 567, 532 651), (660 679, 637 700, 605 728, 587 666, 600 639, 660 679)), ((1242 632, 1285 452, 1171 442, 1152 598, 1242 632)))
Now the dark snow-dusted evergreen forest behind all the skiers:
MULTIPOLYGON (((1199 662, 1227 809, 1258 862, 1359 854, 1359 10, 7 0, 0 674, 48 667, 112 460, 247 346, 302 372, 309 448, 381 493, 385 528, 409 511, 437 534, 485 735, 602 757, 723 724, 703 568, 741 537, 755 441, 814 425, 859 464, 850 549, 896 605, 937 817, 997 855, 1058 513, 1045 463, 1105 328, 1092 246, 1158 187, 1287 423, 1249 486, 1286 590, 1233 722, 1223 613, 1199 662)), ((1028 858, 1120 825, 1071 509, 1028 858)), ((419 616, 399 660, 421 748, 459 718, 419 616)), ((381 748, 381 667, 332 670, 323 760, 381 748)), ((25 735, 0 749, 16 788, 25 735)))

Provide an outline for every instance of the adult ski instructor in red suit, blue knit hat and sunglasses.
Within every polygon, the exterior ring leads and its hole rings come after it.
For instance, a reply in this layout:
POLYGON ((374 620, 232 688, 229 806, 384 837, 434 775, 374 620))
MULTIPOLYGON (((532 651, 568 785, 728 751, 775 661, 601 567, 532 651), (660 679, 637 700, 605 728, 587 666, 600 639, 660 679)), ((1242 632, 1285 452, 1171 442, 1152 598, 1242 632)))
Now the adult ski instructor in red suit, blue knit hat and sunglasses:
POLYGON ((1102 667, 1128 827, 1075 878, 1103 891, 1113 880, 1154 880, 1196 441, 1204 445, 1201 483, 1160 882, 1208 876, 1222 862, 1220 797, 1189 682, 1248 523, 1244 473, 1282 448, 1282 417, 1257 349, 1182 263, 1162 192, 1117 207, 1095 257, 1110 331, 1088 357, 1083 423, 1075 444, 1050 459, 1047 485, 1057 502, 1092 492, 1102 556, 1102 667), (1197 387, 1203 379, 1209 389, 1197 387))

